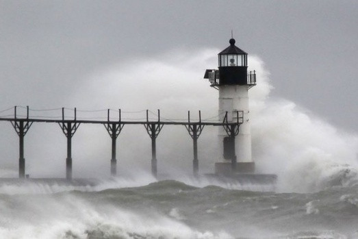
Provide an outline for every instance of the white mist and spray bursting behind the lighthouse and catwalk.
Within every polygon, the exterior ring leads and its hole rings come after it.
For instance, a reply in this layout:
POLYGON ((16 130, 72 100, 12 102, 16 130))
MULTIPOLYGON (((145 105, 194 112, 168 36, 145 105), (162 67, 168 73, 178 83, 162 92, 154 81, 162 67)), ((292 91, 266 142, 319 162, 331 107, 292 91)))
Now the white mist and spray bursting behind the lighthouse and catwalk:
MULTIPOLYGON (((216 68, 218 49, 180 49, 136 57, 105 68, 94 68, 79 80, 79 88, 64 100, 66 116, 77 107, 77 118, 106 118, 106 109, 122 110, 123 121, 144 120, 145 110, 155 119, 217 121, 218 91, 203 79, 206 68, 216 68), (81 111, 85 110, 85 111, 81 111), (95 110, 96 112, 92 112, 95 110), (101 111, 98 111, 101 110, 101 111), (90 112, 87 112, 90 111, 90 112)), ((271 98, 274 79, 264 62, 249 55, 249 70, 257 71, 250 92, 253 159, 259 173, 279 176, 282 191, 316 191, 331 183, 349 184, 357 176, 358 137, 330 125, 294 102, 271 98)), ((30 105, 30 108, 36 105, 30 105)), ((31 112, 32 114, 32 112, 31 112)), ((41 114, 41 113, 40 113, 41 114)), ((60 110, 51 112, 60 116, 60 110)), ((1 122, 2 177, 17 176, 17 136, 10 123, 1 122)), ((199 171, 212 173, 218 158, 218 129, 205 127, 199 138, 199 171)), ((110 175, 110 137, 103 125, 80 125, 73 136, 73 176, 110 175)), ((66 138, 58 125, 34 123, 25 136, 26 170, 30 177, 64 177, 66 138)), ((149 175, 150 138, 142 125, 125 125, 117 140, 118 175, 149 175)), ((157 138, 158 173, 192 172, 192 140, 183 126, 164 125, 157 138)))

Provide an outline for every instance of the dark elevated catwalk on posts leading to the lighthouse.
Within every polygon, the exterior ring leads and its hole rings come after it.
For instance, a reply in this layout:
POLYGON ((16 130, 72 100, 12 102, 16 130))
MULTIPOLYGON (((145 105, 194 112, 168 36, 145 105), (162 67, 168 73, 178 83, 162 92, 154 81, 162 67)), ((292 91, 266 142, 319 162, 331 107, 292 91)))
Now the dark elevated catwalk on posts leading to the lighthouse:
MULTIPOLYGON (((117 176, 116 168, 117 168, 117 160, 116 160, 116 139, 120 132, 122 131, 123 127, 125 125, 143 125, 146 129, 147 134, 151 138, 151 171, 153 173, 153 176, 157 177, 157 157, 156 157, 156 138, 159 135, 160 131, 162 130, 162 127, 166 125, 166 127, 170 125, 183 125, 186 127, 188 133, 190 134, 190 137, 192 138, 193 142, 193 175, 195 177, 199 177, 199 156, 198 156, 198 145, 197 140, 199 139, 199 136, 201 135, 201 132, 203 131, 205 126, 219 126, 223 127, 225 131, 227 132, 227 135, 231 138, 235 138, 235 136, 238 135, 238 132, 240 131, 240 125, 242 125, 244 118, 243 118, 243 112, 237 111, 235 112, 235 121, 228 121, 227 112, 225 112, 225 115, 223 116, 222 121, 205 121, 201 120, 201 112, 199 111, 199 120, 193 121, 190 118, 190 112, 188 112, 188 121, 172 121, 168 119, 162 119, 160 117, 160 111, 157 110, 157 118, 156 120, 153 120, 153 118, 149 117, 149 110, 146 110, 146 114, 144 116, 144 121, 123 121, 122 119, 122 113, 121 110, 118 110, 116 112, 116 120, 110 117, 110 110, 107 110, 107 120, 104 121, 92 121, 92 120, 86 120, 81 119, 80 117, 77 117, 77 109, 75 108, 73 110, 74 115, 69 118, 68 116, 65 117, 64 115, 64 108, 60 109, 62 115, 60 118, 32 118, 29 114, 31 112, 31 109, 27 106, 25 108, 26 114, 19 116, 17 114, 18 107, 11 108, 9 110, 13 110, 12 114, 7 114, 6 116, 0 115, 0 122, 1 121, 8 121, 12 124, 14 129, 16 130, 16 133, 19 137, 19 158, 18 158, 18 177, 21 179, 25 179, 27 177, 25 173, 25 154, 24 154, 24 147, 25 142, 24 138, 27 133, 27 131, 30 129, 31 125, 33 123, 57 123, 60 125, 64 135, 67 138, 67 158, 66 158, 66 180, 71 181, 73 179, 72 175, 72 137, 77 131, 78 127, 81 124, 101 124, 104 125, 105 129, 107 130, 108 134, 112 138, 112 158, 110 160, 110 172, 112 177, 117 176)), ((235 170, 242 168, 238 162, 235 162, 235 158, 232 158, 231 170, 235 168, 235 170)), ((246 169, 242 168, 245 172, 246 169)), ((225 173, 227 176, 231 177, 230 173, 225 173)), ((220 177, 222 177, 222 173, 220 173, 220 177)), ((202 177, 202 175, 200 176, 202 177)), ((240 178, 243 176, 240 176, 240 178)), ((249 176, 253 178, 253 176, 249 176)), ((31 181, 34 180, 41 180, 41 179, 29 179, 31 181)), ((49 179, 44 179, 49 180, 49 179)), ((53 180, 60 180, 60 179, 53 179, 53 180)), ((60 180, 61 181, 61 180, 60 180)), ((76 183, 76 181, 73 181, 73 183, 76 183)))

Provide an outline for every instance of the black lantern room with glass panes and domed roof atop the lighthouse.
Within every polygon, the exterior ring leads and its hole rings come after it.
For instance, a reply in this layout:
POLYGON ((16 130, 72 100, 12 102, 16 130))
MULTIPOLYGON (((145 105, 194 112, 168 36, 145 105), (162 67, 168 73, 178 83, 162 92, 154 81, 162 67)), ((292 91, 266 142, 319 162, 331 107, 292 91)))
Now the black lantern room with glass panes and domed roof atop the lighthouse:
POLYGON ((247 53, 235 46, 235 39, 229 40, 230 46, 218 53, 220 85, 247 84, 247 53))

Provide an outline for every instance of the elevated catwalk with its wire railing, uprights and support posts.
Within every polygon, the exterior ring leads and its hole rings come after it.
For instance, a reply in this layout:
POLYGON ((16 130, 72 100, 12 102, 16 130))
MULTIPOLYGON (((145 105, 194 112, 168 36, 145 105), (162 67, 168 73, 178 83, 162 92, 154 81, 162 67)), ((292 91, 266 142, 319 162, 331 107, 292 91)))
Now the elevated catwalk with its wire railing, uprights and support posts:
MULTIPOLYGON (((199 173, 198 147, 197 140, 201 135, 201 131, 207 125, 222 126, 225 128, 228 136, 235 137, 239 133, 239 127, 244 121, 244 113, 242 111, 233 112, 232 118, 228 118, 228 112, 225 115, 213 116, 210 118, 190 118, 188 111, 187 119, 168 119, 160 116, 160 110, 157 113, 150 110, 141 110, 138 112, 123 112, 122 110, 77 110, 77 108, 56 108, 47 110, 34 110, 28 106, 15 106, 0 111, 0 121, 10 121, 19 137, 19 159, 18 159, 18 177, 25 178, 25 155, 24 155, 24 137, 33 123, 57 123, 60 125, 67 139, 67 158, 66 158, 66 179, 72 179, 72 137, 81 124, 102 124, 107 129, 112 139, 112 158, 111 158, 111 175, 116 176, 117 160, 116 160, 116 139, 125 125, 144 125, 147 134, 151 138, 151 171, 157 176, 157 155, 156 155, 156 139, 164 125, 184 125, 193 140, 193 173, 199 173), (25 111, 25 114, 24 114, 25 111), (65 112, 72 111, 72 115, 68 116, 65 112), (21 112, 22 114, 18 114, 21 112), (30 113, 36 115, 31 115, 30 113), (42 114, 40 114, 42 112, 42 114), (60 114, 58 114, 60 112, 60 114), (78 117, 77 113, 82 115, 78 117), (111 115, 112 112, 112 115, 111 115), (114 116, 113 112, 116 116, 114 116), (145 112, 145 114, 144 114, 145 112), (106 113, 103 115, 103 113, 106 113), (86 116, 84 116, 86 114, 86 116), (88 115, 90 114, 90 115, 88 115), (123 114, 130 114, 131 118, 123 117, 123 114), (144 114, 144 117, 132 117, 133 114, 144 114), (155 118, 153 117, 155 116, 155 118), (223 118, 222 121, 214 121, 214 118, 223 118)), ((235 159, 233 159, 235 160, 235 159)))

